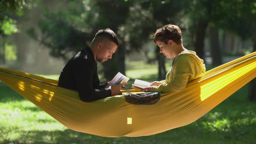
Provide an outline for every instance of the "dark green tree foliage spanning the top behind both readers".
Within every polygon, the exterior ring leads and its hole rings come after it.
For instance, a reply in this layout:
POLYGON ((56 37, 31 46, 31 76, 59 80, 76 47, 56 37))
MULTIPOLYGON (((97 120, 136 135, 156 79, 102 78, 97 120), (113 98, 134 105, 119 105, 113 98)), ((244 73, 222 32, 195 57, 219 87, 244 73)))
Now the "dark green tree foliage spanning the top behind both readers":
MULTIPOLYGON (((215 29, 213 32, 223 29, 243 39, 253 39, 256 37, 255 14, 255 0, 71 0, 66 9, 55 13, 45 11, 39 22, 42 36, 39 37, 34 29, 29 33, 49 47, 51 55, 67 61, 67 53, 88 45, 98 29, 113 29, 121 45, 118 55, 103 65, 105 77, 110 79, 118 71, 125 73, 125 53, 141 51, 141 47, 152 40, 154 31, 165 24, 179 25, 183 32, 188 29, 191 39, 184 39, 184 44, 194 46, 198 56, 203 58, 209 26, 215 29)), ((218 43, 214 41, 219 39, 218 35, 215 33, 215 37, 211 37, 213 44, 218 43)), ((159 65, 164 64, 158 48, 151 49, 156 49, 159 65)), ((217 54, 216 57, 221 56, 220 49, 217 54)), ((161 68, 164 66, 159 70, 161 68)))

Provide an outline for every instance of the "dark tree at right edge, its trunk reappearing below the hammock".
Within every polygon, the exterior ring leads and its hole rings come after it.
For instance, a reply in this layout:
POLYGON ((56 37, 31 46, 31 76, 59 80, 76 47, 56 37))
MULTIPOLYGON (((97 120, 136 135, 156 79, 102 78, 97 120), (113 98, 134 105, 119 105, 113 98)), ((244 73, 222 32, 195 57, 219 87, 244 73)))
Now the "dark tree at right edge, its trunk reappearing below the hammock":
MULTIPOLYGON (((253 51, 256 51, 256 1, 231 0, 222 2, 221 5, 226 9, 226 17, 220 21, 219 26, 233 33, 238 34, 243 40, 251 39, 253 51), (232 23, 230 25, 230 23, 232 23)), ((224 13, 224 12, 223 12, 224 13)), ((249 100, 256 100, 256 79, 249 85, 249 100)))

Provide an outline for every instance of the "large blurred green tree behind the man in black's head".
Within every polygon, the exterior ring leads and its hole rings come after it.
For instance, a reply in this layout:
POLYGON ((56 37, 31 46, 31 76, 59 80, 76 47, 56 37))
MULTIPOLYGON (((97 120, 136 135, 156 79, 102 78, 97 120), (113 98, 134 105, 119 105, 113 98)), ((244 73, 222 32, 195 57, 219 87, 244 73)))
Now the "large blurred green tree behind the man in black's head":
MULTIPOLYGON (((70 1, 66 10, 49 12, 39 22, 42 36, 35 29, 28 33, 50 49, 50 54, 68 61, 71 53, 88 46, 98 29, 110 28, 118 33, 119 26, 125 23, 129 13, 129 2, 120 0, 80 0, 70 1)), ((104 76, 107 79, 121 71, 125 73, 125 49, 122 38, 118 56, 104 62, 104 76), (118 67, 121 65, 121 67, 118 67)))

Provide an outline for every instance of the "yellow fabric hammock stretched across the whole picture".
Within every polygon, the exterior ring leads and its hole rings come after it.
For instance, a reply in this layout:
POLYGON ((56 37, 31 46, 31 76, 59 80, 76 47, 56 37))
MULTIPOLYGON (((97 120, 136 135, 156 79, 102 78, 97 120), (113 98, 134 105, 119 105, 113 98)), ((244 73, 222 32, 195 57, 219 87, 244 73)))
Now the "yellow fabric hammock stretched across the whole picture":
POLYGON ((0 81, 66 127, 103 137, 139 137, 190 124, 256 77, 256 52, 207 71, 154 105, 131 105, 123 95, 83 102, 56 80, 0 69, 0 81))

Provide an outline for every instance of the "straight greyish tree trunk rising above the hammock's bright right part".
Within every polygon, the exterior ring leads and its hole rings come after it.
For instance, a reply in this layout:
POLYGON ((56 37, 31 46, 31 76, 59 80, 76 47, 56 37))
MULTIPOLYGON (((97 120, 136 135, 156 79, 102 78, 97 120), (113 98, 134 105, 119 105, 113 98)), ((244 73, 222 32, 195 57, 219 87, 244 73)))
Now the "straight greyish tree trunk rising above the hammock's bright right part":
POLYGON ((215 26, 210 26, 210 48, 211 57, 213 59, 213 66, 219 66, 222 64, 220 43, 219 43, 219 33, 215 26))

